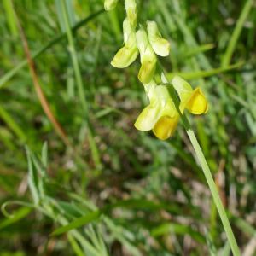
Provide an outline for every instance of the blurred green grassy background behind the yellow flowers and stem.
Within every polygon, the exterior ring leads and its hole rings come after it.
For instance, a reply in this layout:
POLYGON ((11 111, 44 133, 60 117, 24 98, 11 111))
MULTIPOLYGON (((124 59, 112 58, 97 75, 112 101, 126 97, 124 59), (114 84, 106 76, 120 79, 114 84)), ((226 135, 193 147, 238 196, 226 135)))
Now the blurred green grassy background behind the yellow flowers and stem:
MULTIPOLYGON (((63 0, 70 27, 89 18, 73 30, 73 40, 101 162, 95 165, 61 1, 13 2, 39 84, 73 147, 44 113, 11 2, 0 3, 0 204, 18 201, 6 207, 13 218, 0 215, 0 256, 231 255, 182 122, 167 141, 134 127, 148 105, 139 59, 125 69, 110 64, 123 43, 124 1, 106 12, 101 0, 63 0), (49 238, 61 225, 111 205, 90 224, 49 238)), ((208 113, 188 113, 189 121, 236 241, 244 256, 256 255, 256 3, 138 4, 139 21, 155 20, 172 44, 170 56, 160 58, 170 78, 183 73, 207 96, 208 113)))

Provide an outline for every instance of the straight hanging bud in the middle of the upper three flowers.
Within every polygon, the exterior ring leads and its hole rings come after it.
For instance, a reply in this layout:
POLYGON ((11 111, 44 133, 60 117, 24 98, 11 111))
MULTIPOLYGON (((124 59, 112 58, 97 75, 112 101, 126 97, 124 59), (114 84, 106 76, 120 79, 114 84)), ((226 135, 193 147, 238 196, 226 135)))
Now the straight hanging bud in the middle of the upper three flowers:
POLYGON ((142 63, 138 78, 143 84, 149 84, 154 78, 156 56, 154 55, 154 50, 151 48, 148 42, 147 33, 143 29, 137 31, 136 38, 142 63))

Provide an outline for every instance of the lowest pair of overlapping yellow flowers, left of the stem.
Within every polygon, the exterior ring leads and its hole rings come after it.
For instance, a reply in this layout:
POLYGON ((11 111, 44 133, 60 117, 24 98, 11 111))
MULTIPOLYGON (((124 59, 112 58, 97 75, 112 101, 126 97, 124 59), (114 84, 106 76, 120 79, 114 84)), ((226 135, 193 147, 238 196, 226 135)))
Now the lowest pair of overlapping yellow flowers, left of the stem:
POLYGON ((164 85, 156 86, 154 81, 144 84, 150 104, 137 118, 135 127, 140 131, 153 129, 154 135, 161 140, 172 136, 177 128, 179 114, 171 96, 164 85))

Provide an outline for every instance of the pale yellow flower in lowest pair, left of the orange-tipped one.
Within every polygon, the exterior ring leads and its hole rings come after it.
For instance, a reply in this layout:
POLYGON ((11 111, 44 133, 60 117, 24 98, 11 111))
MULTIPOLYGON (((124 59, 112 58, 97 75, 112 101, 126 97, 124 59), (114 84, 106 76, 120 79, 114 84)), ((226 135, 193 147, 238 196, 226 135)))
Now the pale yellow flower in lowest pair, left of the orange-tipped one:
POLYGON ((149 131, 154 128, 154 124, 160 117, 160 104, 155 94, 156 84, 151 81, 150 84, 144 84, 146 93, 148 94, 150 104, 143 109, 134 126, 140 131, 149 131))

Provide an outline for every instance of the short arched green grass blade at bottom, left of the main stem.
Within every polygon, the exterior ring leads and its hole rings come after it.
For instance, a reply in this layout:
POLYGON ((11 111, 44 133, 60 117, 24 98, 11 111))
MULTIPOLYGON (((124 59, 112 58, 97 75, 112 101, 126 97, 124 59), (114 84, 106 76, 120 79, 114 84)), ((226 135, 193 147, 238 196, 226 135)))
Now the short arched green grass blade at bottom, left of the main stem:
POLYGON ((191 236, 195 241, 198 241, 202 244, 206 243, 206 239, 204 236, 201 235, 201 233, 192 230, 189 226, 178 224, 178 223, 166 223, 162 224, 159 227, 155 228, 154 230, 151 230, 150 235, 151 236, 163 236, 171 234, 171 232, 174 232, 178 235, 189 235, 191 236))

